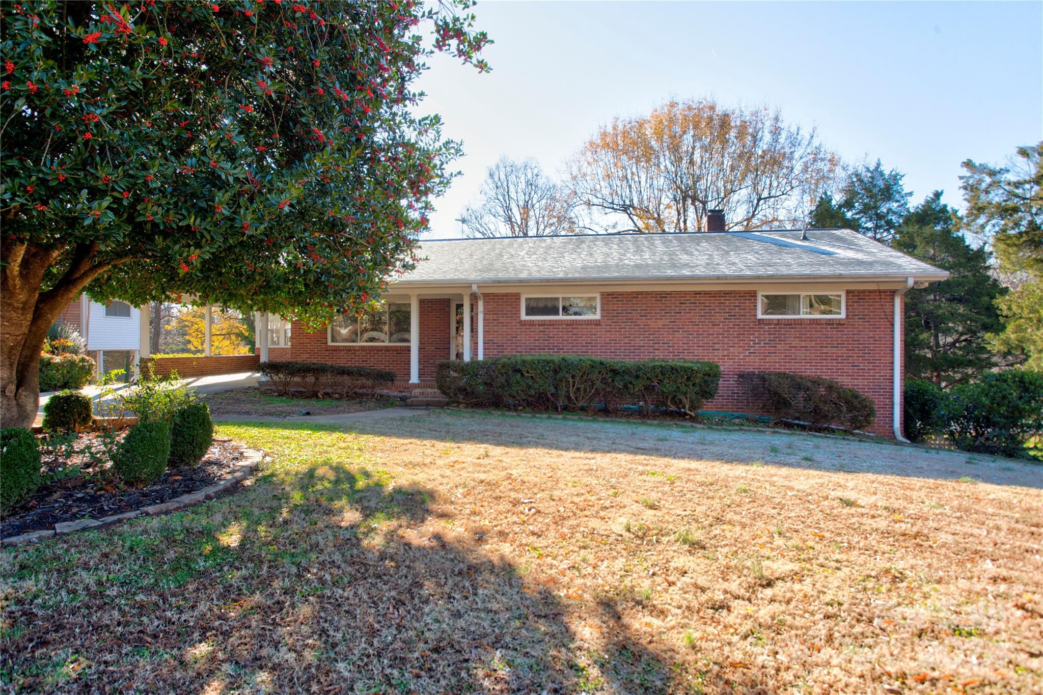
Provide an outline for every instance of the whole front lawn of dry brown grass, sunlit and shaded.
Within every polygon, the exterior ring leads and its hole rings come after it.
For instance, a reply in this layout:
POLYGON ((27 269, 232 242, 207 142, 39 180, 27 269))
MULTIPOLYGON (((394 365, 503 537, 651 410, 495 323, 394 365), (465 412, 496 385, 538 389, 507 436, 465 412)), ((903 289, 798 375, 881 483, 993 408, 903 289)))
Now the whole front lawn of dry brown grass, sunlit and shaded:
POLYGON ((435 412, 222 433, 243 493, 5 551, 0 682, 1041 692, 1043 467, 435 412))

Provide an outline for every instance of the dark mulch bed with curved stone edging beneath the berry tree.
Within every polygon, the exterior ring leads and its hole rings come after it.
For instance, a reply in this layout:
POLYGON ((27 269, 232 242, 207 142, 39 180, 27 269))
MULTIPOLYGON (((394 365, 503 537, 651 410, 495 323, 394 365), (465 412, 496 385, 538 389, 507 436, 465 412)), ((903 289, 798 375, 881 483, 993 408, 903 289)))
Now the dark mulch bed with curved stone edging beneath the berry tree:
MULTIPOLYGON (((107 469, 86 468, 75 477, 57 477, 42 485, 32 497, 3 518, 0 538, 53 528, 64 521, 132 512, 209 488, 242 460, 242 445, 233 442, 216 442, 200 463, 167 469, 163 477, 147 488, 127 488, 107 469)), ((45 479, 56 471, 56 466, 45 464, 45 479)))

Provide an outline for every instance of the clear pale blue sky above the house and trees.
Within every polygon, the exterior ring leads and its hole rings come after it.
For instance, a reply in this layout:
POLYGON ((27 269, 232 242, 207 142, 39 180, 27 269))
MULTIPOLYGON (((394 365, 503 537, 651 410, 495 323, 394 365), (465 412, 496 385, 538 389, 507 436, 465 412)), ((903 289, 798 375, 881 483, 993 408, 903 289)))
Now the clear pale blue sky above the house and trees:
POLYGON ((552 175, 613 116, 672 96, 768 103, 848 160, 904 172, 914 201, 961 205, 960 163, 1043 140, 1043 3, 480 2, 481 75, 436 56, 423 110, 464 143, 432 238, 501 154, 552 175))

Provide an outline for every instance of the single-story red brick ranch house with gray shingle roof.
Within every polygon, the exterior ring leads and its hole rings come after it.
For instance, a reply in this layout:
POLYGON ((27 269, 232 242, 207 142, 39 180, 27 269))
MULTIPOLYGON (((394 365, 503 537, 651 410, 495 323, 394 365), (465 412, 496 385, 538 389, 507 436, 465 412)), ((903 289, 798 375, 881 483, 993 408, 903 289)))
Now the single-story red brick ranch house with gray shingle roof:
POLYGON ((744 371, 825 376, 874 400, 872 431, 900 437, 902 295, 948 276, 847 229, 426 241, 419 256, 372 315, 315 332, 261 315, 260 361, 430 388, 450 357, 709 359, 722 378, 706 407, 748 411, 744 371))

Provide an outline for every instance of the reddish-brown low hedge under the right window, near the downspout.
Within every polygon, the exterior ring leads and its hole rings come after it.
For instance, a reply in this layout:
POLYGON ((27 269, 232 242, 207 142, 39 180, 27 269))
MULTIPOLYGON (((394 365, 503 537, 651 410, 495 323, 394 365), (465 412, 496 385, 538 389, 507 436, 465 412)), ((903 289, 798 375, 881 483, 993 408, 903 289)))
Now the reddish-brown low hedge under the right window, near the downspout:
POLYGON ((746 372, 739 383, 766 415, 778 420, 863 429, 876 419, 873 401, 832 379, 787 372, 746 372))

